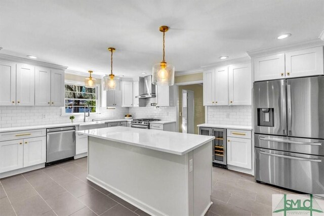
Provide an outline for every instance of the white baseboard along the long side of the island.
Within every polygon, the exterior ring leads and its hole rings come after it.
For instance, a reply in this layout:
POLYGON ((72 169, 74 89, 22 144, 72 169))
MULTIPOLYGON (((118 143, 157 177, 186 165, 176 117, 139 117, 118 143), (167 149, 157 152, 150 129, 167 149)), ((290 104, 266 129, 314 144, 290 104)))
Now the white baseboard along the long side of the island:
MULTIPOLYGON (((131 203, 132 205, 138 207, 139 209, 145 211, 146 213, 150 214, 150 215, 167 215, 166 213, 163 213, 159 210, 157 210, 156 208, 130 196, 127 193, 124 193, 123 191, 120 191, 104 182, 102 182, 101 180, 97 179, 96 177, 93 177, 91 175, 88 175, 87 179, 93 183, 95 183, 96 185, 104 188, 105 190, 113 193, 114 195, 116 195, 117 197, 124 199, 125 201, 131 203)), ((209 208, 209 207, 208 207, 209 208)), ((208 210, 207 208, 207 210, 208 210)), ((207 211, 206 211, 207 212, 207 211)))

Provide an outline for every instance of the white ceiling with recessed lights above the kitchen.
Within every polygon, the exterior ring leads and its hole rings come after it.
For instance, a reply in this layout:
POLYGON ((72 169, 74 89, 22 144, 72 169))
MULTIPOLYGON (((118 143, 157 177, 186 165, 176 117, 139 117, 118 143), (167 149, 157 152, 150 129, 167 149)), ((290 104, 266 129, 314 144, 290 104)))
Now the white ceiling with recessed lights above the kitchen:
POLYGON ((168 25, 166 61, 197 69, 247 51, 319 36, 324 1, 4 1, 1 53, 136 77, 162 60, 160 25, 168 25), (292 36, 283 40, 282 33, 292 36))

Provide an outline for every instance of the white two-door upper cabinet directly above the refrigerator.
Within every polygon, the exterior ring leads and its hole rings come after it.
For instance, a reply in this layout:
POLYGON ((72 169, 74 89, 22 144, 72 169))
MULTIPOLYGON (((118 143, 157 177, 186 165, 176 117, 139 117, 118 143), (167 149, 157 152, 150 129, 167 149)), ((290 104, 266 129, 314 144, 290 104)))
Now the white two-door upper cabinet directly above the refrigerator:
POLYGON ((322 46, 254 58, 254 81, 322 74, 322 46))

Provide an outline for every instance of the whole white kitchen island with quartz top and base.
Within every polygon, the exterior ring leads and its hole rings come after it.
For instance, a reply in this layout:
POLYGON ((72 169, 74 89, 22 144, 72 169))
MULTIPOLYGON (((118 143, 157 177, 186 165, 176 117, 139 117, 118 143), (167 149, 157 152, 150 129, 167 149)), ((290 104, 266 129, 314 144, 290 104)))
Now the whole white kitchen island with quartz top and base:
POLYGON ((88 180, 151 215, 204 215, 212 193, 214 137, 132 127, 89 136, 88 180))

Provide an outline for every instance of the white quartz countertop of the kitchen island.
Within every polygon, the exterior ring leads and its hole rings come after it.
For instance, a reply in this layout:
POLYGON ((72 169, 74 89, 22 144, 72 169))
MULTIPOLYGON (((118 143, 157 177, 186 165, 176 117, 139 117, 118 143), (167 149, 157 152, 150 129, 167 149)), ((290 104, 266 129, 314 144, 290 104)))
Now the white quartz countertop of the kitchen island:
POLYGON ((204 135, 122 126, 89 129, 76 133, 177 155, 184 155, 215 139, 204 135))

